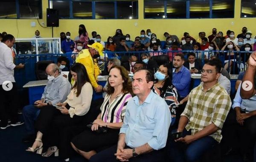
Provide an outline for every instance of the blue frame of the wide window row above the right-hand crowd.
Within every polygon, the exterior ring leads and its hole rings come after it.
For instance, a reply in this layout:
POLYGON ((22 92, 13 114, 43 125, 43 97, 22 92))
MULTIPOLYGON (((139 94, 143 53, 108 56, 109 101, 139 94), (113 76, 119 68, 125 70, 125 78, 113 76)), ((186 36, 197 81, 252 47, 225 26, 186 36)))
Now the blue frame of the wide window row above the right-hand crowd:
MULTIPOLYGON (((149 0, 148 0, 149 1, 149 0)), ((160 0, 159 0, 160 1, 160 0)), ((165 18, 145 18, 145 6, 143 5, 143 17, 144 17, 144 19, 174 19, 174 20, 177 20, 177 18, 173 18, 173 17, 171 17, 171 18, 169 18, 169 17, 167 17, 167 1, 169 1, 169 0, 161 0, 161 1, 164 1, 164 16, 165 16, 165 18)), ((183 0, 177 0, 177 1, 183 1, 183 0)), ((200 0, 198 0, 198 1, 200 1, 200 0)), ((227 17, 227 18, 218 18, 218 17, 216 17, 216 18, 213 18, 212 17, 212 4, 213 4, 213 1, 214 0, 209 0, 209 8, 210 8, 210 11, 209 11, 209 17, 207 17, 207 18, 190 18, 190 12, 189 12, 189 7, 190 7, 190 0, 186 0, 186 18, 178 18, 178 19, 232 19, 232 18, 234 18, 235 17, 235 0, 234 0, 234 12, 233 12, 233 16, 232 17, 227 17)), ((145 2, 145 0, 143 1, 143 3, 145 2)))

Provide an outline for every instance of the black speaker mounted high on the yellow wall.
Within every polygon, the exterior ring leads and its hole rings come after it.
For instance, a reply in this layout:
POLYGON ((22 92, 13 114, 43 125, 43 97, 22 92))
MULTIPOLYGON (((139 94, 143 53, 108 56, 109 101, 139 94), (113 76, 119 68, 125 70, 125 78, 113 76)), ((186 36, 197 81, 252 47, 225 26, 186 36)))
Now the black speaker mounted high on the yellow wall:
POLYGON ((47 8, 47 27, 58 27, 58 10, 47 8))

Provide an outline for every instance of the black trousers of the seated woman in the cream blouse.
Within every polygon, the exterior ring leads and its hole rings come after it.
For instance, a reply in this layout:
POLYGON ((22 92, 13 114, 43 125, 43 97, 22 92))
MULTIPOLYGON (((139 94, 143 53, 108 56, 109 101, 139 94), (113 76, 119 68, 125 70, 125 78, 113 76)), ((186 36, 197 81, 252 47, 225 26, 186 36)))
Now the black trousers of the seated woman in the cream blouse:
POLYGON ((69 126, 79 125, 83 117, 74 115, 71 118, 69 114, 61 114, 54 106, 44 106, 38 115, 35 128, 43 133, 44 146, 58 146, 62 130, 69 126))

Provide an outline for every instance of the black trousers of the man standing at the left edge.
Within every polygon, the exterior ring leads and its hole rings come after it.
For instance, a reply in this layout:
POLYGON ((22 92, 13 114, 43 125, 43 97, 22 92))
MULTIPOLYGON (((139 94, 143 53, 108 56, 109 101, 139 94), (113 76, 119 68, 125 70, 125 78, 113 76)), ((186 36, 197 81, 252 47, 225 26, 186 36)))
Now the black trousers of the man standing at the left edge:
POLYGON ((20 106, 20 101, 18 98, 17 87, 15 82, 12 82, 13 88, 10 91, 5 91, 0 85, 0 120, 1 125, 6 126, 8 119, 12 123, 18 121, 17 109, 20 106))

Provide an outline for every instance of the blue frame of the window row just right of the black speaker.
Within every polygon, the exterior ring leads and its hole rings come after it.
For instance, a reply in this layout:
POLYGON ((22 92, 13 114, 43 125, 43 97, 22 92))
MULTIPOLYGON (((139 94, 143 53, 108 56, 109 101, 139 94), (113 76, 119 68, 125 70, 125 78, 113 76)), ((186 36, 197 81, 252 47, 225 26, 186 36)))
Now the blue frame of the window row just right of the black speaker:
MULTIPOLYGON (((50 8, 50 1, 57 1, 57 0, 48 0, 48 8, 50 8)), ((59 18, 61 20, 70 20, 70 19, 76 19, 76 20, 137 20, 139 19, 139 0, 126 0, 126 1, 136 1, 136 8, 137 8, 137 11, 136 11, 136 14, 137 14, 137 17, 134 17, 132 19, 119 19, 117 17, 117 1, 124 1, 124 0, 64 0, 64 1, 69 1, 70 2, 70 17, 67 17, 67 18, 59 18), (87 2, 91 2, 92 3, 92 18, 88 19, 88 18, 82 18, 82 17, 74 17, 73 16, 73 1, 87 1, 87 2), (96 2, 104 2, 104 1, 107 1, 107 2, 113 2, 114 3, 114 18, 103 18, 103 19, 96 19, 96 2)))

